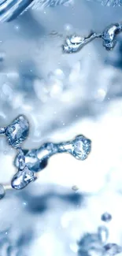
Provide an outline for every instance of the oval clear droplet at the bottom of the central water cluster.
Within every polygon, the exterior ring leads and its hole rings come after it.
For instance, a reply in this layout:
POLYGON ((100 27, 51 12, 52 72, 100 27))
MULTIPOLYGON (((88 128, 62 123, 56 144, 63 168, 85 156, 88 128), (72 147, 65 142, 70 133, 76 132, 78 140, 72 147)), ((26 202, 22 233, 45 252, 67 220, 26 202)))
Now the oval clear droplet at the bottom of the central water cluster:
POLYGON ((11 186, 17 190, 26 187, 31 181, 35 181, 36 177, 27 166, 24 167, 23 171, 18 171, 11 181, 11 186))

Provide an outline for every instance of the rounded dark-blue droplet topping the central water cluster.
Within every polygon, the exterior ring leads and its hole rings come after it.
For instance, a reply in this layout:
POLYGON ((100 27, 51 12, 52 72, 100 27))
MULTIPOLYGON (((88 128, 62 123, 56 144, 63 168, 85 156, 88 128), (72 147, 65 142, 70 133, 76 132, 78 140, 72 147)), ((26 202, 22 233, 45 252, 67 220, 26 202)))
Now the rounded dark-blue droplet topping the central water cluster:
POLYGON ((19 147, 20 143, 28 137, 28 132, 28 121, 20 115, 6 128, 6 137, 12 147, 19 147))

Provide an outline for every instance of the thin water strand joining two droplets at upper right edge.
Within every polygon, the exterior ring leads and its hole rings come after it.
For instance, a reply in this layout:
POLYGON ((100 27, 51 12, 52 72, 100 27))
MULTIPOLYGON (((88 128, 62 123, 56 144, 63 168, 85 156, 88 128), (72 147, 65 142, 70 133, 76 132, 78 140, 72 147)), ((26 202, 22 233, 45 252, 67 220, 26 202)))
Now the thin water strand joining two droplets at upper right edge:
POLYGON ((91 33, 87 37, 80 37, 78 35, 71 35, 65 40, 65 44, 62 46, 63 52, 66 54, 77 53, 87 43, 91 43, 94 39, 102 39, 103 46, 106 50, 113 50, 116 46, 116 35, 122 32, 122 24, 111 24, 104 29, 102 33, 91 33))

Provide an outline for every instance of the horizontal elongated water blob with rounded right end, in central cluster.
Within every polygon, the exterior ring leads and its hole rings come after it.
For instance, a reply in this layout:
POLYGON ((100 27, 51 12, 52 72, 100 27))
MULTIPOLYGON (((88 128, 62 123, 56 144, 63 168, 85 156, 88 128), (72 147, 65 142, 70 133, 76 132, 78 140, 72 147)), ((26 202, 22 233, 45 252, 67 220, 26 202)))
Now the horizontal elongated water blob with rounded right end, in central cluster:
POLYGON ((54 154, 68 153, 79 160, 87 159, 91 152, 91 139, 77 135, 75 139, 64 143, 44 143, 35 150, 21 150, 17 154, 14 165, 19 169, 28 169, 37 173, 44 169, 54 154))

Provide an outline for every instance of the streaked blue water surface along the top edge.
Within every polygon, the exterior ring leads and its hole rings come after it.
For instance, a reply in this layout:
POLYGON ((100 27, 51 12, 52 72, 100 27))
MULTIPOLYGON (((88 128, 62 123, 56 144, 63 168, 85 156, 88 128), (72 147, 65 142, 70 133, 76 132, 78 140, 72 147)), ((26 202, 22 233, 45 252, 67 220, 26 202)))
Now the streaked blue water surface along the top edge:
MULTIPOLYGON (((87 0, 86 0, 87 1, 87 0)), ((102 6, 122 6, 121 0, 88 0, 98 2, 102 6)), ((0 21, 9 22, 16 19, 21 13, 28 9, 43 9, 46 7, 69 6, 73 0, 1 0, 0 1, 0 21)))

